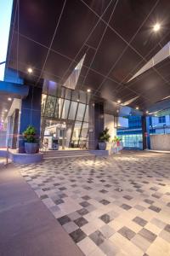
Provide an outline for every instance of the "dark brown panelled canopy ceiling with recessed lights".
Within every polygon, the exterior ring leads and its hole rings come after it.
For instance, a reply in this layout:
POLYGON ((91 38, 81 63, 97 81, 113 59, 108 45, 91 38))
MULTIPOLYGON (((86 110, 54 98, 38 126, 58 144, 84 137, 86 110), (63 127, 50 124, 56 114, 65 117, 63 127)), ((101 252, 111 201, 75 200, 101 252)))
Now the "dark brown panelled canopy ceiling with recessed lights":
POLYGON ((127 83, 170 41, 168 0, 14 1, 8 67, 64 84, 86 53, 77 88, 140 109, 170 95, 170 60, 127 83), (19 15, 18 15, 19 14, 19 15), (161 23, 161 30, 152 26, 161 23))

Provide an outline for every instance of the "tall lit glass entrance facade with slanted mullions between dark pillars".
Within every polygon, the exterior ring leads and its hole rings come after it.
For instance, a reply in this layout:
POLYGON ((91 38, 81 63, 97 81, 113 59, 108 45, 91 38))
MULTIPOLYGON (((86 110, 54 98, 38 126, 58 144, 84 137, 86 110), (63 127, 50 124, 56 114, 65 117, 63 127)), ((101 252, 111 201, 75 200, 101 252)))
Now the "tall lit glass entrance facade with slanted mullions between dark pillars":
MULTIPOLYGON (((42 94, 42 139, 48 136, 65 140, 66 148, 88 144, 88 95, 68 88, 49 90, 46 83, 42 94), (50 92, 53 91, 53 95, 50 92), (48 128, 47 128, 48 127, 48 128)), ((60 143, 61 144, 61 143, 60 143)))

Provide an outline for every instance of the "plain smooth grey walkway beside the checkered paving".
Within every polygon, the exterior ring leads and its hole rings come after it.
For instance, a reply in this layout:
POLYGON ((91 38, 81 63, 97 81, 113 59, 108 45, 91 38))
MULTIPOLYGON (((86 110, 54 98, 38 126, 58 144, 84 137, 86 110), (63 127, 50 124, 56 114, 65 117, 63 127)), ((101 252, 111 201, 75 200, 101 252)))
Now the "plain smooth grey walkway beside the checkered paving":
POLYGON ((0 255, 82 256, 13 165, 0 166, 0 255))

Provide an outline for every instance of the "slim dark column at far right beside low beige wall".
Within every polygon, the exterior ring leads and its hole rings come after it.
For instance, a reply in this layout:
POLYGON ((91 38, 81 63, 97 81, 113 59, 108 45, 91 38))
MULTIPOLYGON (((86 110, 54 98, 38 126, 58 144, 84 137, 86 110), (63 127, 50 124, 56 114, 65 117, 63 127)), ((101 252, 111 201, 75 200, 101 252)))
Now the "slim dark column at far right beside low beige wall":
POLYGON ((150 149, 150 119, 146 115, 142 116, 143 150, 150 149))

